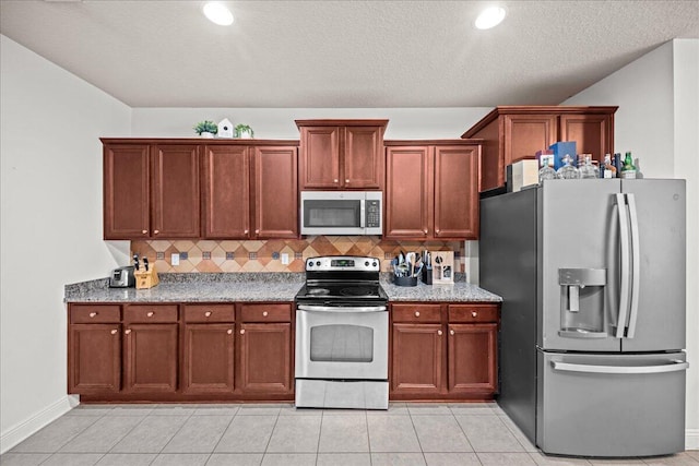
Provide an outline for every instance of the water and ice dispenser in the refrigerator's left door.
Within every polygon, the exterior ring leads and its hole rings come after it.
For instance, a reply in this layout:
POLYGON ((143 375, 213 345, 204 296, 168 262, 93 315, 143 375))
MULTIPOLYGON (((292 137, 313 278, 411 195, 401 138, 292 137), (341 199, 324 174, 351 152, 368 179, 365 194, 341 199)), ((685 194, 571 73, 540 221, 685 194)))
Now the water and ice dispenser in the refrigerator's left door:
POLYGON ((604 286, 606 268, 559 268, 560 331, 568 338, 606 338, 604 286))

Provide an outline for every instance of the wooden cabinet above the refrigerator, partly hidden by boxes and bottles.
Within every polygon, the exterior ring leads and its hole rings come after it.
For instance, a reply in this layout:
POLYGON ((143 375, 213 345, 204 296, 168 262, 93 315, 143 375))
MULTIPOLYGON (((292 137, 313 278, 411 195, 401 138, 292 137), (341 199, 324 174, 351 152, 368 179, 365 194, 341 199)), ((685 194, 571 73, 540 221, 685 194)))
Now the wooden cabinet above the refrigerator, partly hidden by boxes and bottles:
POLYGON ((618 107, 496 107, 462 138, 481 138, 482 190, 505 186, 506 167, 557 141, 576 141, 578 154, 604 160, 614 152, 614 113, 618 107))

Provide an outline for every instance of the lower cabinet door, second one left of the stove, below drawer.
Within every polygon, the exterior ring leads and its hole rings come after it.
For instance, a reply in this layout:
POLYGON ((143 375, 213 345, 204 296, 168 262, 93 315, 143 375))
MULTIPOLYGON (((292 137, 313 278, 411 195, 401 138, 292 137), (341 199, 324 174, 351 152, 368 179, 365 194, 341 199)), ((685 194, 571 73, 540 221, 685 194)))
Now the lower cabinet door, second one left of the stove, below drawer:
POLYGON ((234 326, 233 323, 185 325, 186 393, 233 392, 234 326))

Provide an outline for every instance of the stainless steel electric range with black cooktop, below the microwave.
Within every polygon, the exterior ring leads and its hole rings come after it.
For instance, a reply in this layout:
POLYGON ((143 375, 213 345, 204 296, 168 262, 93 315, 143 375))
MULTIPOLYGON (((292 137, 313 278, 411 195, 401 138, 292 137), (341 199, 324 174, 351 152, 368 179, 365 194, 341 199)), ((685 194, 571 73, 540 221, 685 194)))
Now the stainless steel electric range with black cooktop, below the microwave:
POLYGON ((388 298, 376 258, 306 261, 296 296, 296 406, 388 409, 388 298))

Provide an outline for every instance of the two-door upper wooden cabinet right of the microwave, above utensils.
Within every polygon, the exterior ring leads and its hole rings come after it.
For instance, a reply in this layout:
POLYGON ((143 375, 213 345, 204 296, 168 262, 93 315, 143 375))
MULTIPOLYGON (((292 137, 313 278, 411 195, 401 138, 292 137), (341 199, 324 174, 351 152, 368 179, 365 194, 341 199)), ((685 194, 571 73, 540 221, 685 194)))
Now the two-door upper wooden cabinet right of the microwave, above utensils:
POLYGON ((478 237, 479 141, 387 141, 386 146, 387 239, 478 237))

